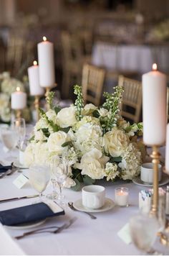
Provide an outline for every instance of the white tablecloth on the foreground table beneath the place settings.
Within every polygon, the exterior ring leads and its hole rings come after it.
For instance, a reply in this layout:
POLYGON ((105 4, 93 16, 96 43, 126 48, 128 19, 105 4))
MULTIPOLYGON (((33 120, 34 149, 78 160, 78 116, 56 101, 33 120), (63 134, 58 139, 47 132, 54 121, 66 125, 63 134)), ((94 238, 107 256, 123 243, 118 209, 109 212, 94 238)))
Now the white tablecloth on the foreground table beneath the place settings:
MULTIPOLYGON (((1 149, 1 145, 0 145, 1 149)), ((2 159, 4 155, 1 149, 2 159)), ((28 170, 23 170, 27 175, 28 170)), ((19 175, 14 173, 0 180, 0 199, 15 196, 32 195, 36 193, 29 183, 21 189, 16 188, 12 181, 19 175)), ((105 183, 104 183, 105 185, 105 183)), ((115 206, 110 211, 95 213, 97 219, 90 219, 84 213, 65 209, 64 216, 48 219, 44 226, 61 225, 72 216, 77 221, 69 229, 59 234, 36 234, 21 240, 14 236, 28 231, 28 229, 7 229, 0 224, 0 255, 139 255, 140 252, 133 244, 125 244, 117 232, 127 223, 130 217, 138 211, 138 192, 143 189, 133 183, 106 183, 107 198, 115 199, 115 187, 125 186, 130 190, 130 206, 120 208, 115 206)), ((51 191, 48 187, 47 191, 51 191)), ((81 198, 80 192, 64 189, 66 201, 76 201, 81 198)), ((16 206, 31 204, 34 198, 0 204, 0 210, 11 209, 16 206)), ((30 230, 30 229, 29 229, 30 230)), ((167 249, 166 249, 167 250, 167 249)), ((165 250, 165 253, 167 252, 165 250)))

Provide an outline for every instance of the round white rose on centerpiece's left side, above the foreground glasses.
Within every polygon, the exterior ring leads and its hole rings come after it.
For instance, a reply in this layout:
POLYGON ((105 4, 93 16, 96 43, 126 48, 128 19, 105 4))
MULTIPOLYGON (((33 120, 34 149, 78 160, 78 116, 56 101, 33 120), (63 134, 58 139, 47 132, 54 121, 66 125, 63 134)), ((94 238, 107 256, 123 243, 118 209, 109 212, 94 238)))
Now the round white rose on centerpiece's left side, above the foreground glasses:
POLYGON ((67 147, 62 147, 64 142, 67 142, 67 133, 66 132, 54 132, 50 134, 47 140, 47 147, 49 152, 56 152, 56 154, 62 154, 64 150, 67 150, 67 147))

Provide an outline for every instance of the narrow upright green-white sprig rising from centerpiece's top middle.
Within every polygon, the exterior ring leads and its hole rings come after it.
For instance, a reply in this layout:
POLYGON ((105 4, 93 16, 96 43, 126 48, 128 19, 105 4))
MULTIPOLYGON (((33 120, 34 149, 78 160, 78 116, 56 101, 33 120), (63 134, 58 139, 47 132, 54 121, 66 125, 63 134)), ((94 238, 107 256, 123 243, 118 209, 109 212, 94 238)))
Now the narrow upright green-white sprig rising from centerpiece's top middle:
POLYGON ((82 97, 82 87, 75 85, 74 86, 74 94, 77 95, 77 99, 74 103, 74 106, 76 109, 76 118, 79 121, 82 119, 82 109, 84 108, 84 100, 82 97))

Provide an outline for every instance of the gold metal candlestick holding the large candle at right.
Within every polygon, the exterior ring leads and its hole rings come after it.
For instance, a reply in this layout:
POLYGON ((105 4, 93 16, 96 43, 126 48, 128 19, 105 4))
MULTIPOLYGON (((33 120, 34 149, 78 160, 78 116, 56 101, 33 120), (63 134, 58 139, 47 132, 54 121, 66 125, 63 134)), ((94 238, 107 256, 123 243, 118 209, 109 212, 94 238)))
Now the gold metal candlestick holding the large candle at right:
POLYGON ((158 216, 158 165, 160 163, 160 152, 158 151, 158 146, 153 146, 153 152, 150 155, 152 157, 153 163, 153 206, 151 209, 151 214, 158 216))

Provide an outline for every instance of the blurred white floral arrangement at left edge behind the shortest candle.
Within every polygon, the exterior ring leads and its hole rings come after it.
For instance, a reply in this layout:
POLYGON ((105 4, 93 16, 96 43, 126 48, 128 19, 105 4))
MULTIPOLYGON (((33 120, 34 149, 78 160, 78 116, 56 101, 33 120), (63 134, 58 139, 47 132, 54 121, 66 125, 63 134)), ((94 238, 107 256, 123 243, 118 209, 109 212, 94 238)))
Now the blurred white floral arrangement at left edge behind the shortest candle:
MULTIPOLYGON (((21 91, 26 91, 26 86, 16 78, 11 78, 9 72, 0 74, 0 122, 11 121, 11 93, 19 87, 21 91)), ((24 109, 24 118, 30 119, 29 109, 24 109)))

